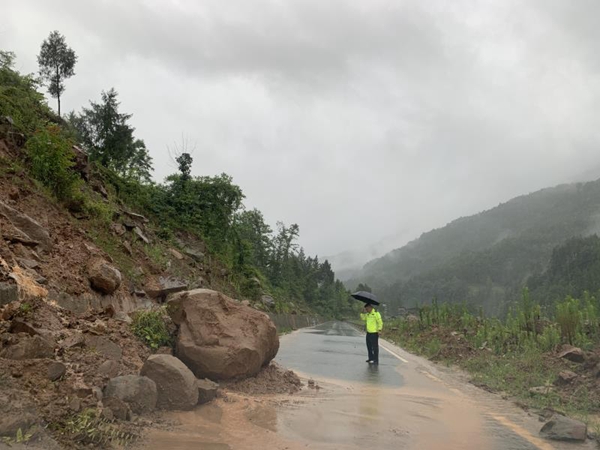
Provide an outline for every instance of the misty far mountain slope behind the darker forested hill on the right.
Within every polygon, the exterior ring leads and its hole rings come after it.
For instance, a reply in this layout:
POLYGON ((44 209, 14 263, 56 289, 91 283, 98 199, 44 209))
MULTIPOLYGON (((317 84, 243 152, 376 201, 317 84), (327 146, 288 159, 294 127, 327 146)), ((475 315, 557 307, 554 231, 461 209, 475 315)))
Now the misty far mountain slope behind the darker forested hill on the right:
POLYGON ((437 297, 499 314, 541 276, 555 247, 598 232, 599 214, 600 180, 543 189, 424 233, 367 263, 347 285, 366 282, 390 311, 437 297))

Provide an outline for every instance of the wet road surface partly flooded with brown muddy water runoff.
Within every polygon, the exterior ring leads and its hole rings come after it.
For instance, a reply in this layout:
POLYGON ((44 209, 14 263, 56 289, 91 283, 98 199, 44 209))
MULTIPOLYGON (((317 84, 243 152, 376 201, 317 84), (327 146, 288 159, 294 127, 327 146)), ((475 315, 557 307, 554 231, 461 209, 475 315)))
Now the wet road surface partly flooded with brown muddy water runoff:
POLYGON ((541 423, 387 342, 366 362, 364 335, 330 322, 282 338, 276 359, 318 388, 293 396, 229 394, 195 411, 166 413, 147 449, 591 449, 539 437, 541 423))

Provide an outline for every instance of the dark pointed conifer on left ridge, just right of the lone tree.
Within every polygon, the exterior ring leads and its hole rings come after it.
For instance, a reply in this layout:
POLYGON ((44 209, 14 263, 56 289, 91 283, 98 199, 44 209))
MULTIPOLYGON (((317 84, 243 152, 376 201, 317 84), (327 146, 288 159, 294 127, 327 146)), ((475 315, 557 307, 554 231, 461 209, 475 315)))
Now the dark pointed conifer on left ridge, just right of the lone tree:
POLYGON ((119 112, 117 91, 102 92, 100 103, 90 101, 90 108, 69 115, 79 140, 92 161, 139 181, 150 181, 152 158, 144 141, 133 135, 128 124, 131 114, 119 112))

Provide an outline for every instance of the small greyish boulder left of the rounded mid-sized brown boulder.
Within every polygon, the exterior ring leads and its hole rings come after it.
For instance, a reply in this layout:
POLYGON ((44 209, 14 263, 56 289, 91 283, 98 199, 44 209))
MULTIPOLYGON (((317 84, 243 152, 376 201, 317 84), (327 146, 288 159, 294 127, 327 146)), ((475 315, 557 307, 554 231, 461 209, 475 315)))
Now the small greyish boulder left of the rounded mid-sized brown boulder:
POLYGON ((108 382, 104 396, 123 400, 136 414, 154 411, 158 397, 156 383, 150 378, 138 375, 113 378, 108 382))

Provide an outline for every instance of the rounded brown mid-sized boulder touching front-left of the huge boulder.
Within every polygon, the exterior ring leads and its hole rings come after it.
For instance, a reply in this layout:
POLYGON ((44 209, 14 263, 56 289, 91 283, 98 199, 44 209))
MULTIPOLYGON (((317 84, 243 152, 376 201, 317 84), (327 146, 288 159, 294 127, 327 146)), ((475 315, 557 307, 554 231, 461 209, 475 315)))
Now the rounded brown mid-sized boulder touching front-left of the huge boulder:
POLYGON ((144 363, 140 375, 156 383, 157 408, 188 410, 198 403, 196 377, 181 360, 174 356, 150 356, 144 363))

